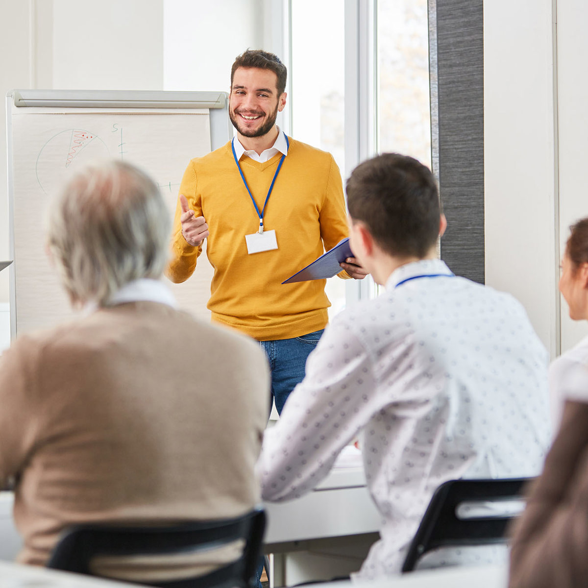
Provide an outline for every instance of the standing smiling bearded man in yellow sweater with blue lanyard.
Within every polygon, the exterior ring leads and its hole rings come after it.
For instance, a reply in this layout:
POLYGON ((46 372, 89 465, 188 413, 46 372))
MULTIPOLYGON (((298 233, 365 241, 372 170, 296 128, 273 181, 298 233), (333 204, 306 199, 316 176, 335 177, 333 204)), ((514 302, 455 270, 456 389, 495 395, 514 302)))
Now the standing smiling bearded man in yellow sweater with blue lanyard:
MULTIPOLYGON (((189 163, 167 272, 173 282, 188 279, 208 239, 212 319, 265 348, 278 412, 304 377, 330 305, 326 280, 282 282, 348 236, 333 156, 276 126, 285 87, 286 67, 275 55, 246 51, 236 59, 229 99, 236 137, 189 163)), ((346 262, 341 277, 365 277, 354 258, 346 262)))

